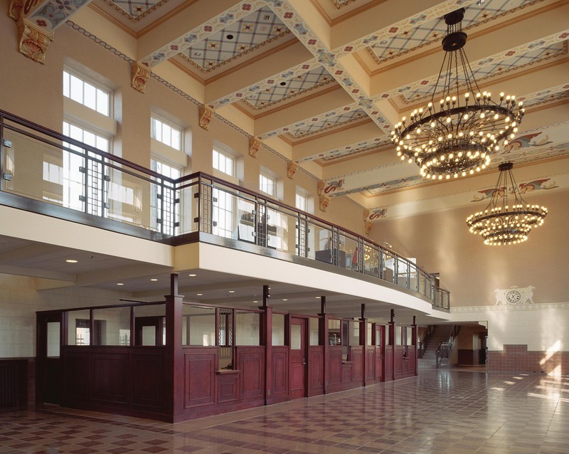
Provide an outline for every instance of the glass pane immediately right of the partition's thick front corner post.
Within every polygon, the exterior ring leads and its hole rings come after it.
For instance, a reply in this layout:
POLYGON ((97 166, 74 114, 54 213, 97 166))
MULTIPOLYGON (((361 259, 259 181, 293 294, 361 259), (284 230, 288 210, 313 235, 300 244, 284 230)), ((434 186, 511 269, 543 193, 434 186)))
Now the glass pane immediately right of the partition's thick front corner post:
POLYGON ((182 341, 184 345, 216 345, 216 310, 213 307, 182 307, 182 341))

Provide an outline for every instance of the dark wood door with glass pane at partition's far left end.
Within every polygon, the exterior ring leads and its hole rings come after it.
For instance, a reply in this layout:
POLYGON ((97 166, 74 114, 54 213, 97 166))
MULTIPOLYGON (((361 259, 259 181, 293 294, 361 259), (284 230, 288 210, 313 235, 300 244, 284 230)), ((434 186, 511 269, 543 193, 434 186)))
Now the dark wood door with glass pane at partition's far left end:
POLYGON ((36 338, 36 403, 60 403, 61 313, 38 314, 36 338))

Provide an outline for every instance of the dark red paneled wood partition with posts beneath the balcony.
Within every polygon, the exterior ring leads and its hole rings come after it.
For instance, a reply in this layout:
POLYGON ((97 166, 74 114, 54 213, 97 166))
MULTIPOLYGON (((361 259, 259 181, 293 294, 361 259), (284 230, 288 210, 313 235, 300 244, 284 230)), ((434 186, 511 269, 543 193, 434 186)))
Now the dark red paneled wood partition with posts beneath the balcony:
MULTIPOLYGON (((261 308, 264 316, 260 317, 260 342, 265 345, 234 346, 233 367, 220 369, 223 346, 181 344, 183 305, 182 298, 177 295, 166 297, 164 345, 162 342, 156 342, 156 346, 139 346, 134 342, 121 346, 61 345, 58 358, 60 383, 44 385, 57 388, 55 391, 61 396, 63 406, 168 422, 292 398, 291 347, 272 346, 270 307, 261 308)), ((92 308, 91 313, 95 310, 92 308)), ((55 318, 65 320, 61 317, 63 312, 60 311, 55 318)), ((131 314, 134 314, 132 308, 131 314)), ((52 316, 50 313, 49 317, 52 316)), ((51 320, 49 317, 38 317, 38 320, 45 324, 51 320)), ((362 328, 368 322, 362 317, 360 323, 362 328)), ((134 322, 131 326, 134 327, 134 322)), ((390 339, 383 339, 383 326, 372 326, 372 332, 375 329, 376 334, 368 339, 366 329, 366 334, 359 339, 361 345, 331 344, 328 317, 321 315, 319 345, 307 346, 306 396, 417 374, 416 342, 393 345, 395 329, 402 329, 394 322, 390 323, 390 339)), ((66 329, 65 323, 61 329, 62 332, 66 329)), ((411 342, 416 337, 416 326, 413 325, 413 334, 408 327, 403 329, 410 338, 405 342, 411 342)), ((290 338, 285 330, 286 344, 290 343, 290 338)))

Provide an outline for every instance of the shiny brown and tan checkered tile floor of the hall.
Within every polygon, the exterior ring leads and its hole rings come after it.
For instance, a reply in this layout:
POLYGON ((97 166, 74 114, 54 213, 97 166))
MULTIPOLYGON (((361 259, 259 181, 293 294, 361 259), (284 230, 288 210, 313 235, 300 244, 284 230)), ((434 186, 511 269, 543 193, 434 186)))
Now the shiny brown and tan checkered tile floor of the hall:
POLYGON ((569 377, 420 376, 168 424, 42 406, 0 413, 0 453, 569 453, 569 377))

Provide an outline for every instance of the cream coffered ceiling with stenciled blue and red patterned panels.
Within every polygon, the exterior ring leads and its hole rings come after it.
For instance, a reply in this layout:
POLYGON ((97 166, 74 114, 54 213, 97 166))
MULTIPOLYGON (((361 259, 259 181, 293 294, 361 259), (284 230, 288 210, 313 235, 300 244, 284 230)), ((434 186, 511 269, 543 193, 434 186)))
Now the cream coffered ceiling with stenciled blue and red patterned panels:
MULTIPOLYGON (((385 194, 432 185, 415 164, 398 161, 390 131, 430 100, 443 16, 464 7, 465 51, 479 86, 526 106, 518 137, 492 157, 489 171, 506 159, 560 159, 569 173, 566 0, 92 0, 67 10, 60 3, 43 2, 33 18, 66 15, 53 28, 73 26, 78 39, 95 37, 147 65, 258 137, 262 149, 324 180, 327 196, 350 196, 383 213, 376 219, 397 212, 385 194)), ((529 178, 551 175, 536 169, 529 178)), ((454 183, 439 184, 441 194, 454 183)), ((471 179, 464 200, 447 202, 469 204, 487 185, 471 179)))

